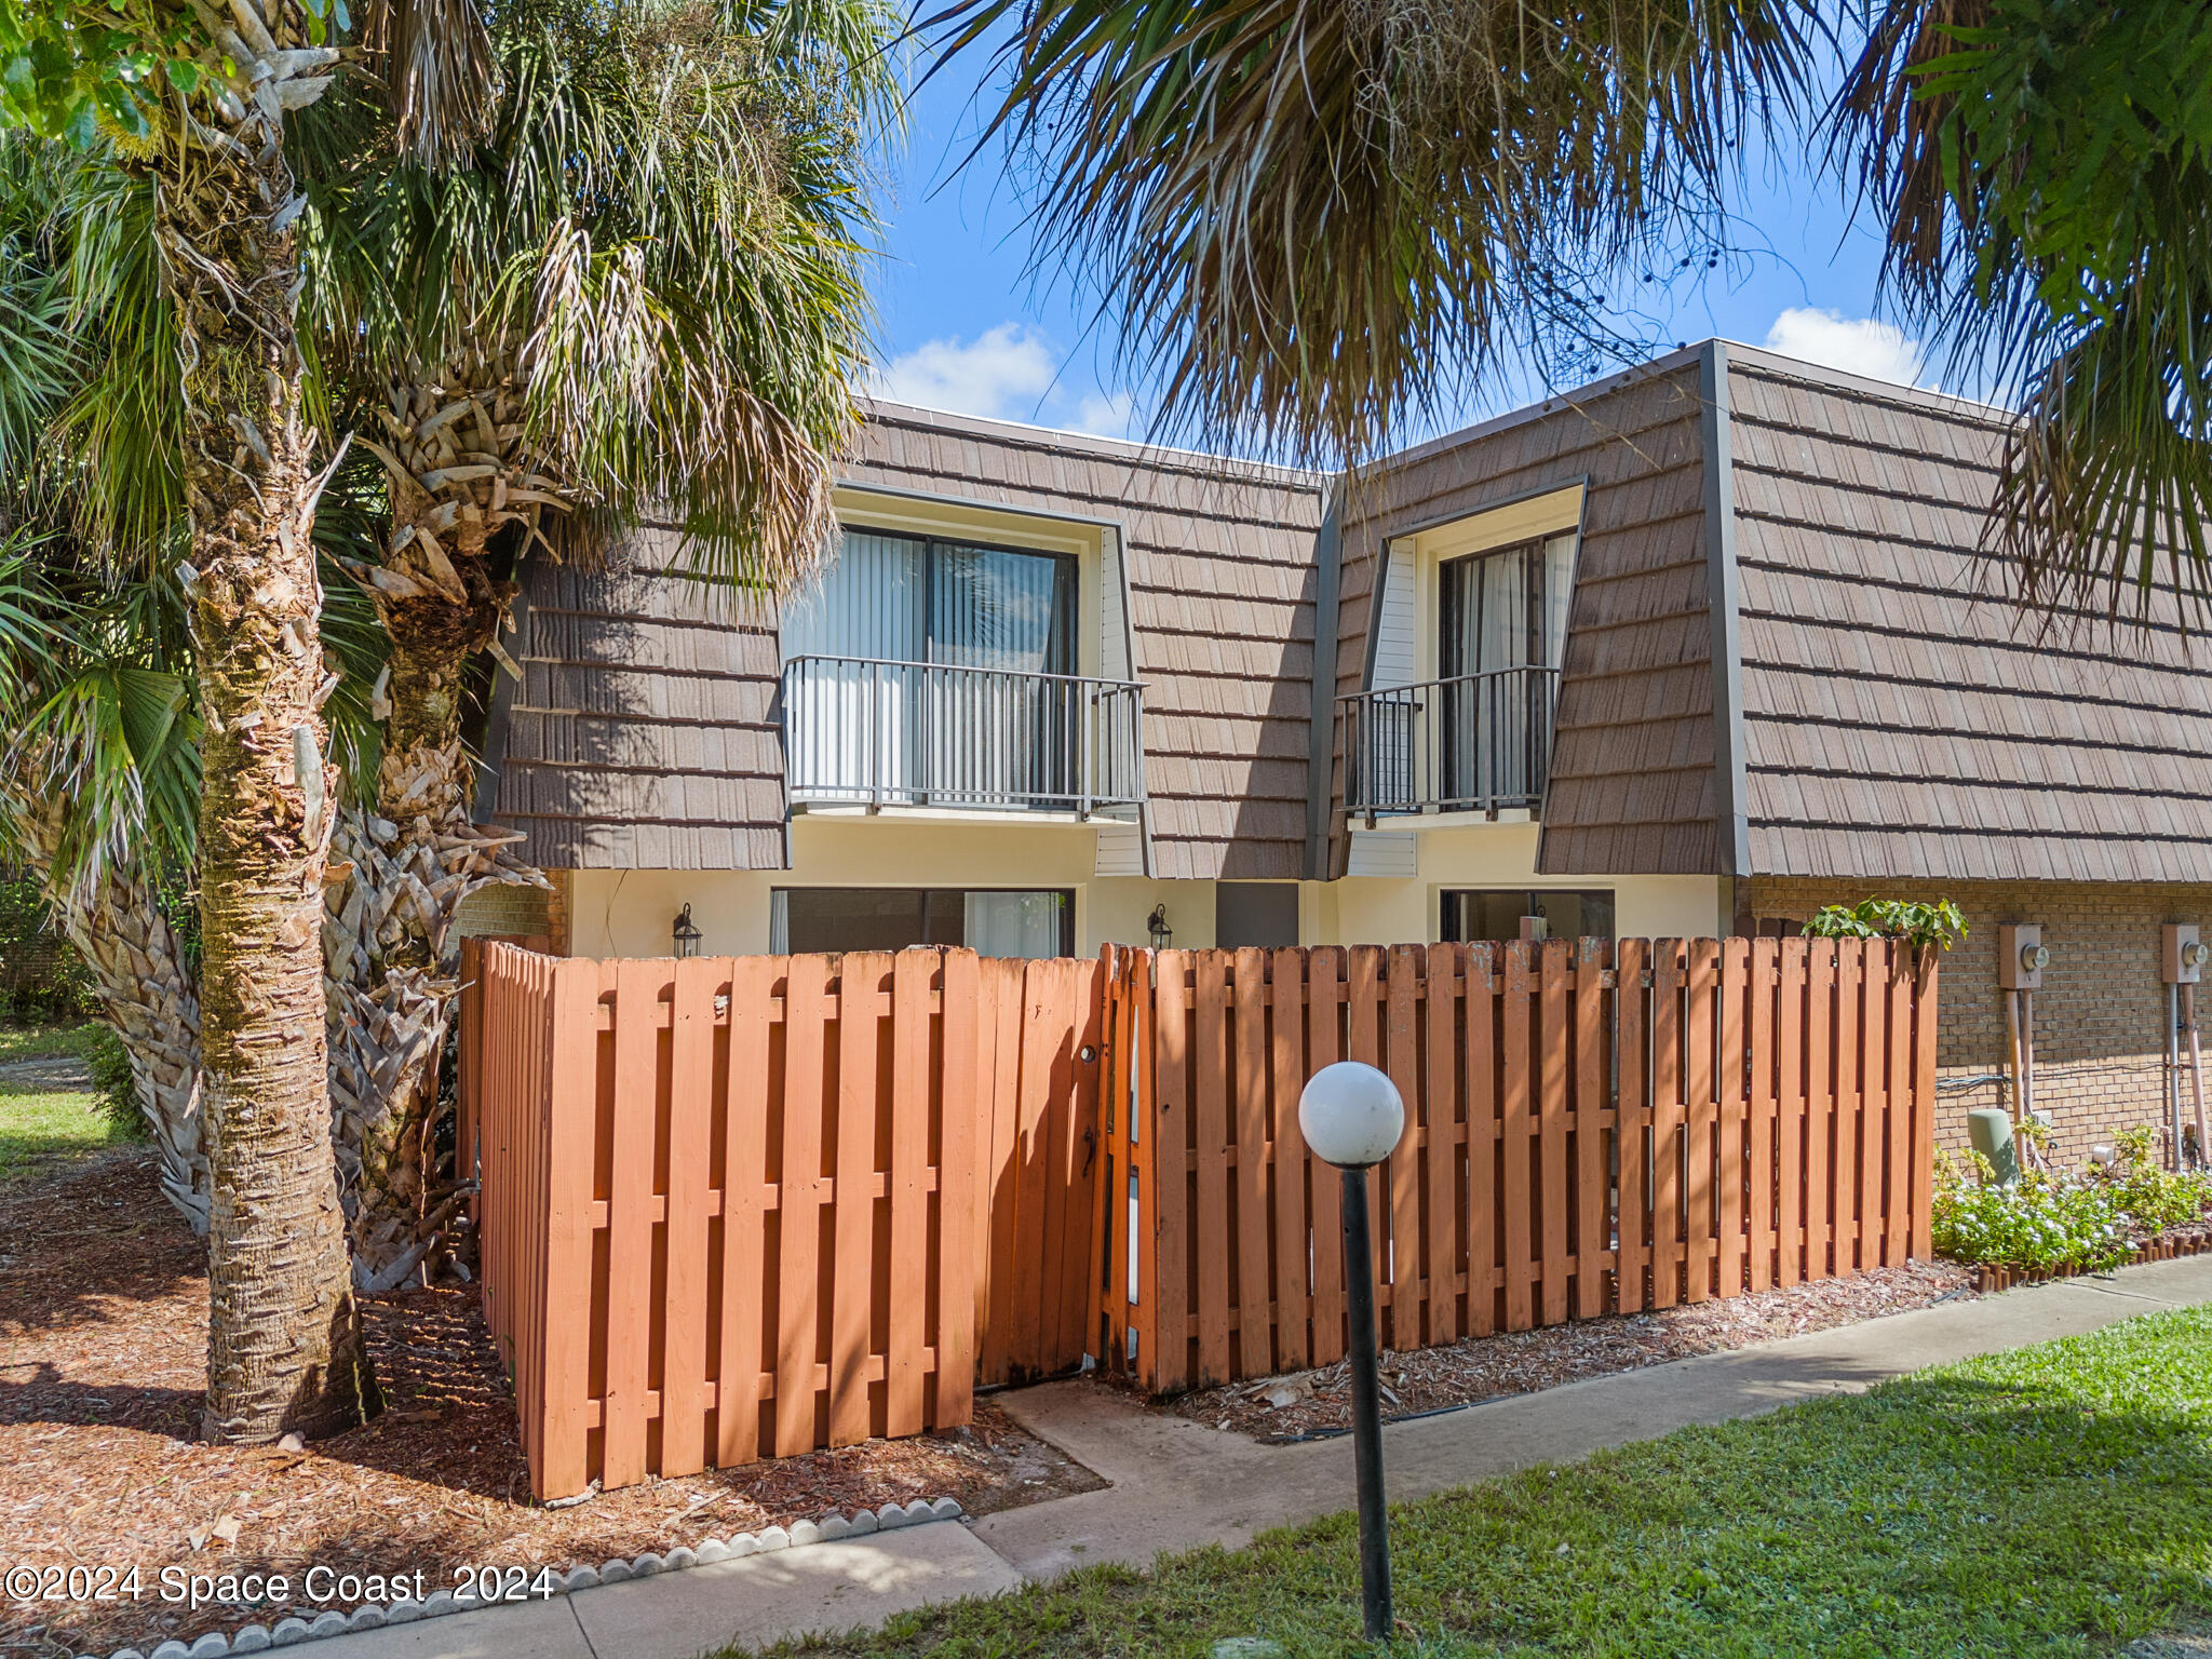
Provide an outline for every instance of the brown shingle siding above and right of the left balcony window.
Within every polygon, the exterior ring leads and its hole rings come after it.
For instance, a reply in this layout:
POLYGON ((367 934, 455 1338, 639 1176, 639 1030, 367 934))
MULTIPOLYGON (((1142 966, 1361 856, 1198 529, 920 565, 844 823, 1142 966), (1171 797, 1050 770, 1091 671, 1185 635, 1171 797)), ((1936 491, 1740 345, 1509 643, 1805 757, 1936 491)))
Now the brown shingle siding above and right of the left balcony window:
POLYGON ((874 405, 843 482, 1124 526, 1157 874, 1305 874, 1318 476, 874 405))

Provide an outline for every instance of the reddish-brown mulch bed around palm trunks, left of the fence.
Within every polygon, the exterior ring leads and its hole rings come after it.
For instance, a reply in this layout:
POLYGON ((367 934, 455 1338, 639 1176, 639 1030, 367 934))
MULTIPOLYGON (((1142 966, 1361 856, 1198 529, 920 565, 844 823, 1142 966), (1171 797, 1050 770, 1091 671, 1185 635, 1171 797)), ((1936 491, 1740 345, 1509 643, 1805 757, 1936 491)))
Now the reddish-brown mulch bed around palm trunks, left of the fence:
POLYGON ((825 1511, 958 1498, 971 1513, 1102 1482, 989 1400, 971 1429, 653 1480, 573 1509, 529 1502, 507 1380, 465 1287, 374 1303, 389 1409, 305 1451, 197 1442, 208 1343, 201 1245, 115 1152, 0 1190, 0 1571, 139 1566, 137 1604, 0 1599, 0 1652, 73 1655, 274 1624, 292 1606, 186 1613, 157 1575, 568 1566, 697 1546, 825 1511))

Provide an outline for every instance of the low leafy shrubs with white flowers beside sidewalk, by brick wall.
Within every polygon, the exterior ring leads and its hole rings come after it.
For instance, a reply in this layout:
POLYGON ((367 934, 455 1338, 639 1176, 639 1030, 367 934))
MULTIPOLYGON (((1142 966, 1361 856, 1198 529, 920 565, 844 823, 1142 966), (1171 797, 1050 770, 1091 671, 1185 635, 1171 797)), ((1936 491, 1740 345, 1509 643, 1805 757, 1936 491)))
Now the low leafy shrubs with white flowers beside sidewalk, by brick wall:
POLYGON ((2110 1166, 2026 1170, 1997 1186, 1973 1152, 1936 1161, 1929 1230, 1953 1261, 2048 1272, 2101 1272, 2135 1256, 2152 1234, 2203 1219, 2212 1177, 2170 1175, 2150 1157, 2150 1130, 2121 1135, 2110 1166))

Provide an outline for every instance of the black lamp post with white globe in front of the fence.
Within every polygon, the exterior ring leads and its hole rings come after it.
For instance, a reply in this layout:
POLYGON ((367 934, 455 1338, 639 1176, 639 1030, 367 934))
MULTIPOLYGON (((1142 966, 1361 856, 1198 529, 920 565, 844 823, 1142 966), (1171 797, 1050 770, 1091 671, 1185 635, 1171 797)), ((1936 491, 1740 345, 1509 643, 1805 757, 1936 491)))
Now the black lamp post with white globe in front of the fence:
POLYGON ((1387 1641, 1389 1520, 1383 1509, 1383 1387, 1376 1354, 1376 1270, 1367 1243, 1367 1170, 1405 1135, 1398 1086, 1374 1066, 1340 1060, 1298 1095, 1298 1133, 1345 1177, 1345 1298, 1352 1314, 1352 1462, 1360 1500, 1360 1604, 1369 1641, 1387 1641))

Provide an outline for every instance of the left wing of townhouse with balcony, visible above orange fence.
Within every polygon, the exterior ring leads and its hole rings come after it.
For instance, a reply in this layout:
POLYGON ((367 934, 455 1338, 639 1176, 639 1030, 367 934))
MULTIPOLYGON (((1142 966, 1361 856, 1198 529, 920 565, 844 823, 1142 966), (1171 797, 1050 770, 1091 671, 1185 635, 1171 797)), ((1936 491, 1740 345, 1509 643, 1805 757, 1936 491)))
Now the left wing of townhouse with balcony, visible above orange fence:
POLYGON ((878 405, 790 604, 529 571, 482 807, 580 953, 1296 942, 1325 484, 878 405))

